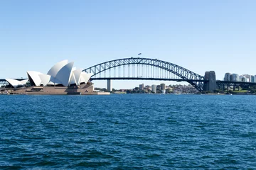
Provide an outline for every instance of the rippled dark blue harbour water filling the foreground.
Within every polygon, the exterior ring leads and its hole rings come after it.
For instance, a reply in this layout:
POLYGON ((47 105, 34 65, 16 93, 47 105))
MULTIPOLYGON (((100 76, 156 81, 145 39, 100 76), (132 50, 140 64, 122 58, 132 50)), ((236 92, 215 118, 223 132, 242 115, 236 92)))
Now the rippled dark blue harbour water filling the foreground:
POLYGON ((0 96, 0 169, 256 169, 256 96, 0 96))

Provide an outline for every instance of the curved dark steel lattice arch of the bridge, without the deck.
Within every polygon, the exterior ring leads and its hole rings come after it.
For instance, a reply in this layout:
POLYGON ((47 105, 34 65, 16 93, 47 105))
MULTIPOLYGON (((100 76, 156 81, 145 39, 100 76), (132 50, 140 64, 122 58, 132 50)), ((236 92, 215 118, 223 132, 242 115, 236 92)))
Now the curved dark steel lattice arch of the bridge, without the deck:
MULTIPOLYGON (((171 62, 165 62, 157 59, 131 57, 131 58, 118 59, 118 60, 111 60, 108 62, 102 62, 100 64, 96 64, 92 67, 82 70, 82 72, 91 73, 92 74, 91 79, 95 79, 94 77, 96 77, 97 74, 100 74, 101 72, 105 72, 108 69, 121 67, 124 65, 133 65, 133 64, 149 65, 152 67, 164 69, 167 72, 171 72, 172 74, 175 74, 176 76, 180 77, 182 81, 187 81, 189 84, 191 84, 196 89, 198 89, 198 91, 203 91, 203 83, 205 81, 203 76, 196 74, 194 72, 191 72, 190 70, 184 67, 178 66, 177 64, 173 64, 171 62)), ((105 79, 110 79, 110 78, 105 77, 105 79)), ((122 78, 119 78, 119 79, 122 79, 122 78)), ((138 77, 137 79, 140 79, 140 77, 138 77)), ((147 78, 147 79, 151 79, 151 78, 147 78)), ((168 79, 165 79, 165 80, 168 80, 168 79)))

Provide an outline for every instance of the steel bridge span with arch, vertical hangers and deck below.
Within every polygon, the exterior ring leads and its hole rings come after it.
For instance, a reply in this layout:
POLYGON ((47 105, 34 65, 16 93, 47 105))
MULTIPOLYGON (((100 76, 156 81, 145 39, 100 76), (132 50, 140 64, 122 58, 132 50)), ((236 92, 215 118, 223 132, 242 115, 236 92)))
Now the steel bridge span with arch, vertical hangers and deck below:
POLYGON ((203 84, 207 81, 203 76, 171 62, 141 57, 102 62, 84 69, 82 72, 91 73, 91 80, 147 79, 187 81, 198 91, 203 91, 203 84))

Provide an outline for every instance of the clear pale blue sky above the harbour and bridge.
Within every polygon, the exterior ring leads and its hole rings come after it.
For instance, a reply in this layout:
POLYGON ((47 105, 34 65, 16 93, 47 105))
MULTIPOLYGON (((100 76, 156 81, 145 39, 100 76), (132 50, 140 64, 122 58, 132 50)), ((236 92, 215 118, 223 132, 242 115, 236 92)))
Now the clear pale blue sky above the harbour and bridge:
MULTIPOLYGON (((255 0, 0 1, 0 78, 47 73, 65 59, 86 69, 139 52, 201 75, 214 70, 217 79, 254 75, 255 8, 255 0)), ((113 88, 143 82, 161 83, 113 88)))

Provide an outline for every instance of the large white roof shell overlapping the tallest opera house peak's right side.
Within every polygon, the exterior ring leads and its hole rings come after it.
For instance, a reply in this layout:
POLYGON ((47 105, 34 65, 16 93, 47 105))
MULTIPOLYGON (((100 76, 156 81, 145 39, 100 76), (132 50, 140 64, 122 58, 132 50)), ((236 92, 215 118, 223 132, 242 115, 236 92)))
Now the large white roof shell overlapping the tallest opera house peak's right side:
POLYGON ((60 71, 58 71, 58 73, 55 76, 55 79, 58 79, 58 81, 60 81, 61 84, 63 84, 63 86, 69 85, 70 74, 71 74, 73 64, 74 62, 70 62, 66 64, 64 67, 60 69, 60 71))

